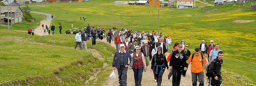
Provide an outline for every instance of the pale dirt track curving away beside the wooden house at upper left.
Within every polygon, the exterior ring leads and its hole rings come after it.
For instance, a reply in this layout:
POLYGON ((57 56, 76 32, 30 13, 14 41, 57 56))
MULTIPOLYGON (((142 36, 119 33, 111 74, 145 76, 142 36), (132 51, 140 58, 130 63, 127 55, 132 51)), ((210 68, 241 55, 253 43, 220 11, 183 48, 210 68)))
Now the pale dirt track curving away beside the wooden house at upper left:
MULTIPOLYGON (((44 33, 44 29, 43 29, 43 27, 42 27, 42 25, 43 25, 43 23, 44 23, 44 26, 45 25, 47 25, 48 27, 49 27, 49 29, 50 29, 50 24, 52 23, 52 14, 48 14, 48 13, 41 13, 41 12, 33 12, 33 11, 31 11, 31 13, 38 13, 38 14, 44 14, 44 15, 46 15, 46 19, 47 20, 42 20, 41 22, 40 22, 40 25, 35 29, 35 34, 37 34, 37 35, 39 35, 39 36, 44 36, 44 35, 49 35, 48 34, 48 32, 45 32, 44 33)), ((56 25, 55 25, 56 26, 56 25)), ((57 25, 58 26, 58 25, 57 25)), ((45 27, 44 27, 45 28, 45 27)), ((51 35, 51 34, 50 34, 51 35)))

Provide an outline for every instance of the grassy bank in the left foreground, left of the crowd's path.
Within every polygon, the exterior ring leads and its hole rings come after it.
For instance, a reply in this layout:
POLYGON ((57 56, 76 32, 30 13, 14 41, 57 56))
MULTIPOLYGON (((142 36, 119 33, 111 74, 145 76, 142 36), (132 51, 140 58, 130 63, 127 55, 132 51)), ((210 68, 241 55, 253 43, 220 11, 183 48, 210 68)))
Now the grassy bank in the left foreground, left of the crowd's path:
MULTIPOLYGON (((0 31, 0 86, 82 86, 101 84, 106 78, 104 76, 109 75, 110 63, 107 61, 112 58, 115 49, 106 43, 91 47, 106 47, 100 50, 104 56, 102 61, 92 56, 91 52, 75 50, 75 39, 70 39, 74 35, 40 37, 26 32, 0 31), (103 67, 103 63, 108 66, 103 67), (102 71, 98 73, 99 79, 89 81, 95 71, 102 71)), ((91 42, 88 41, 87 45, 91 42)))

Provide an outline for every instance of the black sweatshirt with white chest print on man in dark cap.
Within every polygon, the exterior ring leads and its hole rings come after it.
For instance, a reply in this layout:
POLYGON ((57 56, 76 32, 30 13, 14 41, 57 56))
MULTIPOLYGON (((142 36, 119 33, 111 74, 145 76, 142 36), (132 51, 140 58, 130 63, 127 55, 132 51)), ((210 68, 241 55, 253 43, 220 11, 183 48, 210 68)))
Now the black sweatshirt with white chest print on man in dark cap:
POLYGON ((180 53, 178 52, 178 50, 175 50, 171 56, 169 66, 173 66, 173 68, 187 68, 188 65, 186 63, 186 57, 187 55, 183 50, 180 53))

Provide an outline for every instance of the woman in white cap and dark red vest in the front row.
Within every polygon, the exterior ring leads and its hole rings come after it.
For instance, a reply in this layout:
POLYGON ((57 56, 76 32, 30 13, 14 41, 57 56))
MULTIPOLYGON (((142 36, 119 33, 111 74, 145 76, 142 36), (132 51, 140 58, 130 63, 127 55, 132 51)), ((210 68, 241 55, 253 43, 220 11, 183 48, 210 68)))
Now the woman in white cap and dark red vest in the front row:
MULTIPOLYGON (((137 41, 137 40, 135 40, 137 41)), ((139 46, 135 46, 134 53, 131 54, 132 57, 132 70, 134 71, 134 81, 135 86, 141 86, 141 80, 142 80, 142 73, 145 66, 145 69, 147 69, 146 62, 144 59, 144 55, 142 52, 140 52, 139 46)))

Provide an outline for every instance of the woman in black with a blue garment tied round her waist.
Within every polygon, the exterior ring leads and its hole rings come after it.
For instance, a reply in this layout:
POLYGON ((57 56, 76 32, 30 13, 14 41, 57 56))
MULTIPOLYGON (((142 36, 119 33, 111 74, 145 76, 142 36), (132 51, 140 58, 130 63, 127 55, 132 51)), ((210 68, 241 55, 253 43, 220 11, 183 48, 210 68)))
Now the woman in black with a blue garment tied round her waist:
POLYGON ((151 61, 150 72, 153 71, 153 68, 156 70, 156 72, 154 72, 154 73, 156 73, 157 86, 161 86, 162 77, 163 77, 163 73, 165 72, 165 69, 167 68, 168 72, 170 72, 168 63, 166 61, 166 57, 162 53, 162 51, 163 51, 162 47, 158 47, 157 53, 154 54, 154 56, 152 57, 152 61, 151 61))

